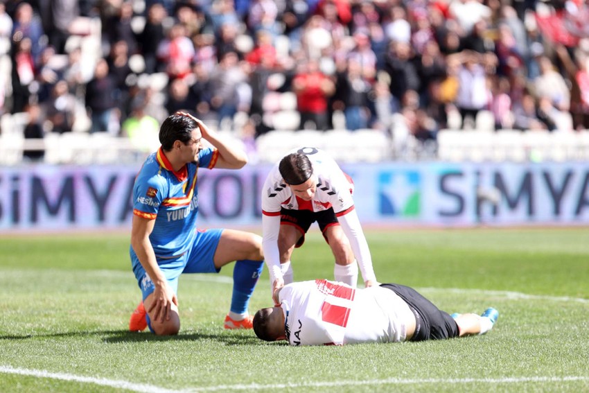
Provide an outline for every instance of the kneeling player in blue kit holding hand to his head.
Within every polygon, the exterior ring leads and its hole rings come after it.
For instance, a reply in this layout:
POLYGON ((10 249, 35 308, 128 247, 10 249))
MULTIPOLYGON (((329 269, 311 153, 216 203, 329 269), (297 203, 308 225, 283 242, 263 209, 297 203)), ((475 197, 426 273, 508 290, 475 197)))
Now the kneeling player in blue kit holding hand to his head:
POLYGON ((196 228, 198 168, 239 169, 247 156, 184 112, 161 124, 159 141, 161 148, 146 159, 133 187, 130 255, 143 297, 129 329, 149 326, 157 335, 178 333, 180 274, 215 273, 233 261, 234 288, 225 329, 251 329, 247 305, 263 268, 261 237, 196 228), (204 139, 212 147, 204 147, 204 139))

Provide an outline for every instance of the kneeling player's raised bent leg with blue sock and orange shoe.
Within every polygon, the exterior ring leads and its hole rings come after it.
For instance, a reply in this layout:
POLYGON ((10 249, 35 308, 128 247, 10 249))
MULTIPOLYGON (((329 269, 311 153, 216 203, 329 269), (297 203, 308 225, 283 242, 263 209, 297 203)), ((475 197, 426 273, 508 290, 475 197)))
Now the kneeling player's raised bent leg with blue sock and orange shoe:
POLYGON ((225 317, 225 329, 251 329, 252 317, 247 307, 264 266, 262 238, 249 232, 225 229, 213 261, 217 269, 236 261, 231 306, 225 317))

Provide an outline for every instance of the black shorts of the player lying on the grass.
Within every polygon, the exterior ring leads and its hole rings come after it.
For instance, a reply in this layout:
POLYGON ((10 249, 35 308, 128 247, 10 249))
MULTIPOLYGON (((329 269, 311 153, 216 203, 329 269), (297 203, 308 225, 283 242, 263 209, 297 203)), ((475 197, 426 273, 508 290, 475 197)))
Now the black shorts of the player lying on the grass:
POLYGON ((408 286, 394 283, 380 284, 395 292, 398 297, 405 300, 415 315, 415 333, 411 341, 443 340, 458 337, 458 324, 454 318, 432 302, 425 299, 419 292, 408 286))

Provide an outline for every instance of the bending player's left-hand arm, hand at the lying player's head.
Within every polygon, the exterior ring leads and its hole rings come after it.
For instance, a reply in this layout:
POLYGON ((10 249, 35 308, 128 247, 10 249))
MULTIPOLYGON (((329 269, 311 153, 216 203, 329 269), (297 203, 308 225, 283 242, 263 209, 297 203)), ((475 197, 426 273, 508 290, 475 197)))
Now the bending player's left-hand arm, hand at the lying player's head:
POLYGON ((280 267, 280 252, 278 249, 278 235, 280 232, 280 212, 262 213, 262 248, 264 260, 270 273, 272 283, 272 299, 279 304, 278 292, 284 286, 284 279, 280 267))

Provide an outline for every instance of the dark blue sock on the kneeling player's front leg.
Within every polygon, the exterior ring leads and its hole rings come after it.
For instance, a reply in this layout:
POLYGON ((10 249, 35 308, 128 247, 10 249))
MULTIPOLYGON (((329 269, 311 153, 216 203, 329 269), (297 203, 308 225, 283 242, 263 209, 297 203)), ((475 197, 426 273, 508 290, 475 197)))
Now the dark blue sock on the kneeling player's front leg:
POLYGON ((233 270, 233 295, 231 296, 231 308, 229 308, 229 317, 232 319, 243 320, 247 316, 249 298, 252 297, 263 267, 264 261, 249 259, 236 261, 233 270))

